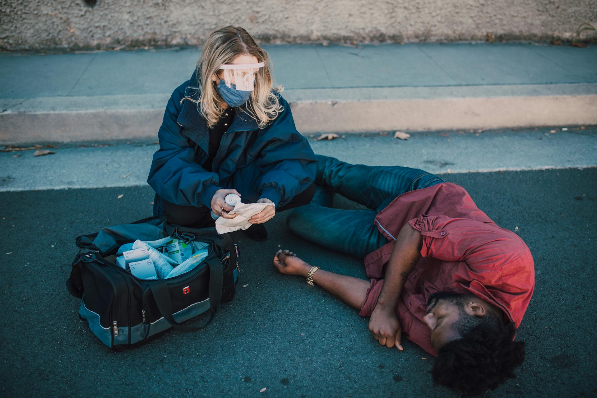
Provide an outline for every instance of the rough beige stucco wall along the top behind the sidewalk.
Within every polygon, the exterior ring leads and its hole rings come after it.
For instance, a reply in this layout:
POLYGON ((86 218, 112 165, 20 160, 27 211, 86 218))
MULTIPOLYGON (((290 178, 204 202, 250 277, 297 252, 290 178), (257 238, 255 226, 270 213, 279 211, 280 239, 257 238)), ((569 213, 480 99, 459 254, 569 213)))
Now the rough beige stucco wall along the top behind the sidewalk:
POLYGON ((583 22, 597 27, 597 1, 2 0, 0 49, 198 45, 227 24, 262 43, 549 40, 573 38, 583 22))

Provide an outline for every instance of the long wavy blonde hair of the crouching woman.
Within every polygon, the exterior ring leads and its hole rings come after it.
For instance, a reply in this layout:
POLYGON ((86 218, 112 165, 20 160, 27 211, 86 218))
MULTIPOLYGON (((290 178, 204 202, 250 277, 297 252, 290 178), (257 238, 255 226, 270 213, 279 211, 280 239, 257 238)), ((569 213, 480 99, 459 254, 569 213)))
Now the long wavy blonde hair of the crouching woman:
POLYGON ((192 90, 199 90, 198 100, 185 96, 183 100, 190 100, 197 103, 197 110, 207 121, 209 128, 213 127, 224 109, 220 107, 225 101, 216 90, 216 84, 211 80, 214 73, 221 71, 220 65, 232 63, 238 55, 254 55, 257 62, 265 63, 264 67, 257 70, 257 80, 254 83, 254 90, 247 101, 247 111, 239 107, 242 112, 253 118, 259 128, 265 127, 269 122, 278 117, 284 107, 278 101, 278 97, 272 92, 282 92, 284 87, 273 87, 272 74, 270 72, 271 60, 267 51, 256 44, 253 36, 242 27, 226 26, 211 33, 205 42, 203 53, 197 62, 196 76, 198 87, 187 87, 192 90))

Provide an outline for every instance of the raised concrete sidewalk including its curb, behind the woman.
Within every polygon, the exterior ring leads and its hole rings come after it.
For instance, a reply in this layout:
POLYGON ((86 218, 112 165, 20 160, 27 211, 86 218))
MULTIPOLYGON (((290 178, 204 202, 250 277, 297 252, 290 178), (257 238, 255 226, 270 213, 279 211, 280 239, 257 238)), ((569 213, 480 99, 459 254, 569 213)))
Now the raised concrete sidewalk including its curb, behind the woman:
MULTIPOLYGON (((595 46, 264 48, 304 134, 597 124, 595 46)), ((155 137, 199 54, 0 54, 0 144, 155 137)))

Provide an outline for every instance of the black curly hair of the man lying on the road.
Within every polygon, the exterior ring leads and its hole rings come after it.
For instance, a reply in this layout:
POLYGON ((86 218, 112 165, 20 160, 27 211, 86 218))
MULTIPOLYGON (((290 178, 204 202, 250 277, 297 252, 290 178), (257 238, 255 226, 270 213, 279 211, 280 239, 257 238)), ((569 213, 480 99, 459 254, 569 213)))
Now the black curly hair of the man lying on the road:
POLYGON ((493 313, 475 317, 460 310, 454 325, 461 338, 439 348, 433 384, 443 385, 465 397, 495 390, 524 361, 524 343, 512 341, 516 329, 493 313))

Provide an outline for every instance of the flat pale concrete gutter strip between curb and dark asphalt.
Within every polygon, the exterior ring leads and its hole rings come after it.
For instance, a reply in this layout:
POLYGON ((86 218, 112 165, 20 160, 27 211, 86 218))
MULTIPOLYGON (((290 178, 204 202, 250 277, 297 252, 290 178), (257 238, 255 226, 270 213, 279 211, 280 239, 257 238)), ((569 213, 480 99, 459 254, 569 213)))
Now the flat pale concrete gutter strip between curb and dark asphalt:
MULTIPOLYGON (((597 126, 413 132, 408 141, 390 134, 341 137, 309 137, 309 143, 313 152, 346 162, 433 174, 597 167, 597 126)), ((40 157, 34 150, 0 152, 0 192, 146 186, 157 149, 155 141, 115 141, 61 144, 51 148, 54 155, 40 157)))

